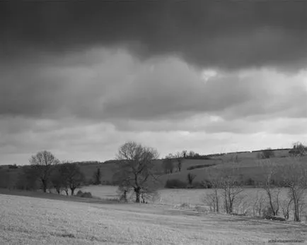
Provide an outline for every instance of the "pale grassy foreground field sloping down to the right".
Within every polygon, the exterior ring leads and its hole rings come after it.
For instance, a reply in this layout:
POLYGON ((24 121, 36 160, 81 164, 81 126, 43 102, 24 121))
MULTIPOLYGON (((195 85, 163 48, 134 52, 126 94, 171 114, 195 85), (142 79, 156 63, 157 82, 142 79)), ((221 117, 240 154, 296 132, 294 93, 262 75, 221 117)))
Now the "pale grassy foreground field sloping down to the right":
POLYGON ((41 195, 0 194, 0 244, 266 244, 307 236, 303 225, 41 195))

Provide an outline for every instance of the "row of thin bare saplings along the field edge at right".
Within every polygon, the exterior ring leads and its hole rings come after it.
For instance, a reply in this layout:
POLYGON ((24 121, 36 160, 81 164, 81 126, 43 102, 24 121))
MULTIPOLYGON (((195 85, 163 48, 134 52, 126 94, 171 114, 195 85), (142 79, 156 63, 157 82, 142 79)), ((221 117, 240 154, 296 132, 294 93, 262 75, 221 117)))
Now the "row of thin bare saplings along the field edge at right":
MULTIPOLYGON (((288 220, 290 213, 294 221, 300 221, 306 202, 304 196, 307 189, 307 166, 296 157, 289 159, 286 165, 280 166, 270 160, 263 160, 263 175, 258 187, 263 190, 260 197, 248 196, 253 200, 254 215, 274 218, 283 215, 288 220), (276 180, 279 184, 276 184, 276 180), (286 193, 286 196, 282 196, 286 193), (255 212, 257 210, 257 212, 255 212)), ((210 191, 203 201, 217 213, 222 210, 228 214, 234 213, 234 208, 243 201, 243 183, 239 181, 236 168, 227 169, 212 174, 209 178, 210 191)))

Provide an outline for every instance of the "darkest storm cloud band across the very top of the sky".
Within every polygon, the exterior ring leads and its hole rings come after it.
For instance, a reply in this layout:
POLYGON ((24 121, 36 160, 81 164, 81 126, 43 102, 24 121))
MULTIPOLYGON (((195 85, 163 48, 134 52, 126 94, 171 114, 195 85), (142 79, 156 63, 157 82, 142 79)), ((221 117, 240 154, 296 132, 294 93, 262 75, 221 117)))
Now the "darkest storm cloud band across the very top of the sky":
POLYGON ((4 1, 0 19, 6 61, 116 45, 221 68, 303 66, 307 56, 307 1, 4 1))

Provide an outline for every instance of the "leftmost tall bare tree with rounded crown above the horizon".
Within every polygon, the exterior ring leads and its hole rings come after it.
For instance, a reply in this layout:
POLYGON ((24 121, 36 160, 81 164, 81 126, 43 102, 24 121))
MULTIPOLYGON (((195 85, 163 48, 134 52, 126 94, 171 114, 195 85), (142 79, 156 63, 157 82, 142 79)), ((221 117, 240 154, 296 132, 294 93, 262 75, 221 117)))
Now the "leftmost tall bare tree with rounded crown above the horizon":
POLYGON ((47 187, 50 184, 50 176, 53 166, 59 163, 59 160, 57 160, 52 153, 44 150, 31 156, 29 162, 33 169, 35 169, 37 177, 41 181, 43 191, 46 192, 47 187))

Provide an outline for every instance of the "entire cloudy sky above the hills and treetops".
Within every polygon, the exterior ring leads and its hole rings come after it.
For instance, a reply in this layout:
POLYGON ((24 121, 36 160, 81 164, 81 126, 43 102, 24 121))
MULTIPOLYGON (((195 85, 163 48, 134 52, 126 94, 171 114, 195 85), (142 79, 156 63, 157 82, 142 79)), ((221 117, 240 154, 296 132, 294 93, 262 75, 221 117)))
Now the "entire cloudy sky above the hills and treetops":
POLYGON ((307 1, 1 1, 0 165, 307 144, 307 1))

